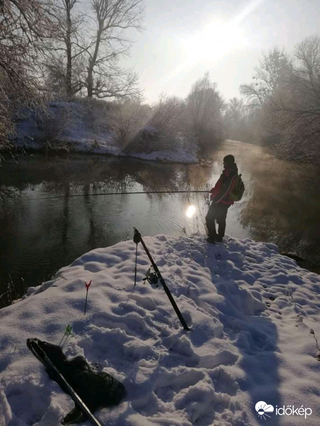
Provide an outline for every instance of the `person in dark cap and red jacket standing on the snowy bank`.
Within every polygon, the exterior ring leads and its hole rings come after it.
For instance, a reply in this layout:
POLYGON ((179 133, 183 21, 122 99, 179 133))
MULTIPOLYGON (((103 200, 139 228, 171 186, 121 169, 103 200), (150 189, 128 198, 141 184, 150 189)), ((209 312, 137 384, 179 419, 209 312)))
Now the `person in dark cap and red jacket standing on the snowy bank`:
POLYGON ((210 190, 210 200, 212 201, 206 215, 206 225, 208 229, 209 243, 223 241, 225 236, 225 219, 227 218, 228 208, 234 203, 230 192, 235 187, 235 176, 238 176, 238 166, 235 163, 235 157, 231 154, 223 158, 223 173, 210 190), (218 224, 218 233, 215 229, 215 221, 218 224))

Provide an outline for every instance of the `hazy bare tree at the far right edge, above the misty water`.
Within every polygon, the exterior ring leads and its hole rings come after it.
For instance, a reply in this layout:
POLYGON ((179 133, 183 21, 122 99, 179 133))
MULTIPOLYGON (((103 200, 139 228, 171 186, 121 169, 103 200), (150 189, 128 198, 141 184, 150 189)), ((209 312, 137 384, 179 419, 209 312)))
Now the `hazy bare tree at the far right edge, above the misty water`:
POLYGON ((272 104, 282 134, 277 153, 320 163, 320 37, 304 39, 294 49, 285 96, 272 104))

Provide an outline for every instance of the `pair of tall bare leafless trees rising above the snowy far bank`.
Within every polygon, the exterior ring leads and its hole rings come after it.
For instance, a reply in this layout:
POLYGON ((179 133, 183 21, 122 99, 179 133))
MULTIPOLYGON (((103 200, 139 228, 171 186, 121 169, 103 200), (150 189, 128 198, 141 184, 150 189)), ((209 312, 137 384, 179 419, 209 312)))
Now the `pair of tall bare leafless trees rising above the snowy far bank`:
POLYGON ((56 31, 47 48, 47 80, 68 99, 139 97, 137 75, 119 66, 139 30, 142 0, 50 0, 56 31), (138 95, 138 96, 136 96, 138 95))

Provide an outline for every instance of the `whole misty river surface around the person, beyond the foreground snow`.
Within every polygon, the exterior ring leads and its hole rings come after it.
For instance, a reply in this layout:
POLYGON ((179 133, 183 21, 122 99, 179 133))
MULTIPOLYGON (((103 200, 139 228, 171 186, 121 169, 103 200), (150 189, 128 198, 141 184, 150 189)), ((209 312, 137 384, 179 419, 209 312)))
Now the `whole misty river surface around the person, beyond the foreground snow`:
POLYGON ((0 295, 10 280, 23 294, 25 286, 48 280, 82 253, 132 239, 133 226, 142 236, 204 233, 206 194, 90 194, 208 190, 228 153, 235 155, 246 191, 229 209, 226 234, 272 241, 282 251, 307 258, 305 267, 320 270, 319 169, 277 160, 258 146, 233 141, 207 165, 33 155, 1 168, 0 295), (190 215, 191 205, 195 210, 190 215))

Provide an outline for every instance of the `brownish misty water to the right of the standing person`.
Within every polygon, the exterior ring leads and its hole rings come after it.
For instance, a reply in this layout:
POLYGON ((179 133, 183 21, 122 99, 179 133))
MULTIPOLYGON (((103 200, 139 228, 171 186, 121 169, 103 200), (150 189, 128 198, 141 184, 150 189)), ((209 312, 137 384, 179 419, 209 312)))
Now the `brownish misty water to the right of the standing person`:
POLYGON ((261 158, 252 164, 250 197, 240 222, 257 241, 273 241, 320 265, 320 170, 261 158))

